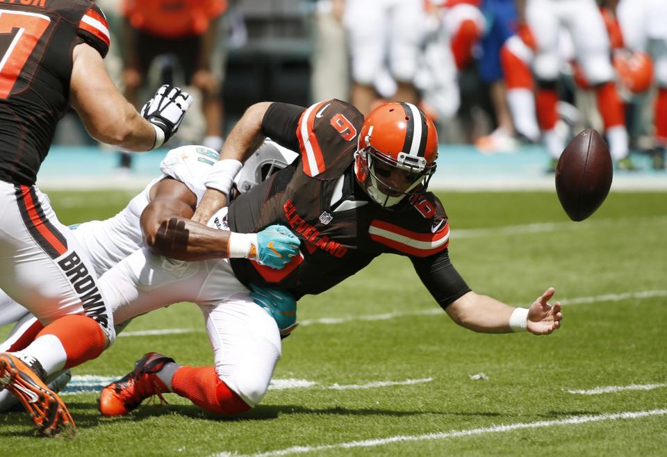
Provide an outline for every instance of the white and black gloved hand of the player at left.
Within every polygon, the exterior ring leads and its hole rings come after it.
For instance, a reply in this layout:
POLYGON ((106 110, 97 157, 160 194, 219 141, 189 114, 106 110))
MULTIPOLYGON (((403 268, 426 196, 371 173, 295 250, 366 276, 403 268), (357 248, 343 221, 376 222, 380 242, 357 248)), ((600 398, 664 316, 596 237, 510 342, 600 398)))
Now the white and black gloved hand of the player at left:
POLYGON ((160 87, 153 98, 147 101, 141 108, 141 115, 156 127, 154 148, 162 146, 179 130, 191 105, 192 96, 188 92, 168 84, 160 87))

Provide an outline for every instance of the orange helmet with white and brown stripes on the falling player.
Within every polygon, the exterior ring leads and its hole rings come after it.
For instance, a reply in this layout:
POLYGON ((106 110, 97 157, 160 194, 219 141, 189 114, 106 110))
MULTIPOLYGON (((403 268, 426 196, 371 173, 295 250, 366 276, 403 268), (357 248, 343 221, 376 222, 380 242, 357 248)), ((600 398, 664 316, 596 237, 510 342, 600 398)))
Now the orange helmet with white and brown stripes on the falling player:
POLYGON ((394 206, 406 195, 426 190, 437 157, 433 121, 412 103, 385 103, 361 126, 354 172, 374 201, 394 206))

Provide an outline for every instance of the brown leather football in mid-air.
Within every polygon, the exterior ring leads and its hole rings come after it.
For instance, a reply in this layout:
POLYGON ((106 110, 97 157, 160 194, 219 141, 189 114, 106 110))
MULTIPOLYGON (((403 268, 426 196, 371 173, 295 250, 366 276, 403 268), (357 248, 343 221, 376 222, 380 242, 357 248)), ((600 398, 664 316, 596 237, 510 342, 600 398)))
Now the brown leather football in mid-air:
POLYGON ((556 167, 556 193, 573 221, 595 213, 609 194, 614 167, 600 133, 587 128, 570 141, 556 167))

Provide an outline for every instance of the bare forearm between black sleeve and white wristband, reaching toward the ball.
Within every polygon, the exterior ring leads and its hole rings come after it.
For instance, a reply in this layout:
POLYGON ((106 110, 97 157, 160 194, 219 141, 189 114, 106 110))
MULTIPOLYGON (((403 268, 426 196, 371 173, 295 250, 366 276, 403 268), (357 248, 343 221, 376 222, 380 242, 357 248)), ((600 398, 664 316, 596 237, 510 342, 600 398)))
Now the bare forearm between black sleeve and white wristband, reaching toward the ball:
POLYGON ((509 326, 513 306, 486 295, 468 292, 447 307, 452 320, 479 333, 512 333, 509 326))

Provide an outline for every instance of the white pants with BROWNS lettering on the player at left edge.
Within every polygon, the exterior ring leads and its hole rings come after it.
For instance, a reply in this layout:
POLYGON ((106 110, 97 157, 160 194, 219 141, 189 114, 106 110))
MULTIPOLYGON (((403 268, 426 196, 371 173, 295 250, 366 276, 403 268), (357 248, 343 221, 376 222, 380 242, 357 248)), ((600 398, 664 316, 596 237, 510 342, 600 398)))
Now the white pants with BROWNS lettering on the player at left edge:
POLYGON ((0 214, 0 289, 44 325, 85 314, 113 342, 113 317, 97 274, 47 195, 34 185, 0 181, 0 214))

